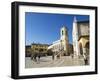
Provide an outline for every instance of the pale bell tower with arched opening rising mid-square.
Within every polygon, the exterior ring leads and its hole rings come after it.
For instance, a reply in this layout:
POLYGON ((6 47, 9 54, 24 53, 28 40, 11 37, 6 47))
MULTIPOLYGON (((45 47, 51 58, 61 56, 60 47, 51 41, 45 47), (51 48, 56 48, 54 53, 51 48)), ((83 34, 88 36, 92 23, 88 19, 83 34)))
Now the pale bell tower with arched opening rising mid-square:
POLYGON ((62 48, 66 52, 66 55, 68 54, 68 48, 69 48, 69 43, 68 43, 68 32, 67 28, 63 26, 60 31, 61 34, 61 41, 62 41, 62 48))

